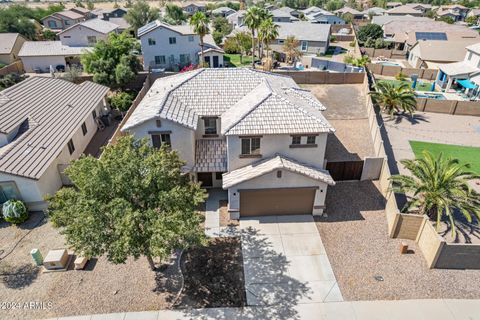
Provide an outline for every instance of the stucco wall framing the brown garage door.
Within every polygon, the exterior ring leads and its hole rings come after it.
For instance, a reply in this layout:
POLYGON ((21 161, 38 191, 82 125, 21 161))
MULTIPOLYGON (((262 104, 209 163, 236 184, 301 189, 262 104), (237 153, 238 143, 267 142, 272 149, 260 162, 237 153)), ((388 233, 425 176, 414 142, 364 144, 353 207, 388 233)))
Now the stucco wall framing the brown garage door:
POLYGON ((230 217, 238 219, 240 216, 240 192, 242 189, 269 189, 269 188, 302 188, 316 187, 315 201, 312 212, 314 215, 320 215, 324 211, 325 197, 327 194, 327 184, 321 181, 313 180, 304 175, 294 173, 288 170, 282 171, 281 178, 277 178, 277 171, 264 174, 257 178, 245 181, 228 189, 228 209, 231 211, 230 217))

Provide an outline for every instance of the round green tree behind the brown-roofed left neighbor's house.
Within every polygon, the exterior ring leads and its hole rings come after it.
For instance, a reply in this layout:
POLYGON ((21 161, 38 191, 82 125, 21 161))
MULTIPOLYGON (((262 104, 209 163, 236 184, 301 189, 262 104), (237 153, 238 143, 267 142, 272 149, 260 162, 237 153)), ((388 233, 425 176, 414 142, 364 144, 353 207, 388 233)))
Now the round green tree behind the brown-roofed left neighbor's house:
POLYGON ((82 64, 85 71, 93 74, 93 81, 121 87, 141 69, 138 58, 132 54, 139 50, 140 45, 128 33, 111 33, 106 41, 98 41, 92 52, 82 55, 82 64))

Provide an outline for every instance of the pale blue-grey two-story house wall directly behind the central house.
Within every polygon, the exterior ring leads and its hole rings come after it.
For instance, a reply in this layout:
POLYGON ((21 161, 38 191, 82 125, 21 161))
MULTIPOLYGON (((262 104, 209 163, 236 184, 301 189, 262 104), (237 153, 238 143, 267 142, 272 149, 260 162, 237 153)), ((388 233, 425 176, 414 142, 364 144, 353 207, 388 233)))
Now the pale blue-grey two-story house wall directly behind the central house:
POLYGON ((159 27, 140 37, 143 54, 143 68, 148 70, 154 68, 171 68, 180 63, 180 55, 190 56, 192 63, 198 63, 198 52, 200 51, 200 38, 198 35, 182 35, 167 28, 159 27), (169 38, 175 37, 176 43, 170 44, 169 38), (155 44, 149 45, 148 39, 154 39, 155 44), (164 56, 165 64, 156 64, 155 56, 164 56))

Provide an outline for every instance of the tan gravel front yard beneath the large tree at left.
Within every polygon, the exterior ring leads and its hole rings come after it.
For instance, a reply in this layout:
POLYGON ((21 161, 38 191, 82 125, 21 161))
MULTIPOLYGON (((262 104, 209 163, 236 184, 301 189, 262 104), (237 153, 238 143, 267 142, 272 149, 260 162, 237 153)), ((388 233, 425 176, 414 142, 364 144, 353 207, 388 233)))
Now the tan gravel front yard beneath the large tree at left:
POLYGON ((0 309, 0 319, 40 319, 120 311, 143 311, 168 308, 179 288, 176 268, 153 272, 146 259, 113 265, 104 258, 92 260, 85 271, 42 273, 32 267, 29 255, 39 248, 45 257, 49 249, 62 248, 63 238, 50 223, 41 220, 41 213, 30 217, 26 226, 17 229, 0 224, 0 257, 27 234, 13 252, 0 261, 1 273, 23 272, 2 276, 0 301, 13 303, 40 302, 44 309, 0 309), (171 275, 165 277, 165 275, 171 275), (51 304, 49 304, 51 303, 51 304))

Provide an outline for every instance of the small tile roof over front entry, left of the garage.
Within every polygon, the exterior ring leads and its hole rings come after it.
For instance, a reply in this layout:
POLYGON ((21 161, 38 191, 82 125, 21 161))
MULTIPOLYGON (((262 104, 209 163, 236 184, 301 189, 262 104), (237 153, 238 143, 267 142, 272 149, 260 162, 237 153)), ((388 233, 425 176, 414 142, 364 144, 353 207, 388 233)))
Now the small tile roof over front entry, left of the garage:
POLYGON ((199 139, 195 142, 194 172, 226 172, 227 142, 220 139, 199 139))

